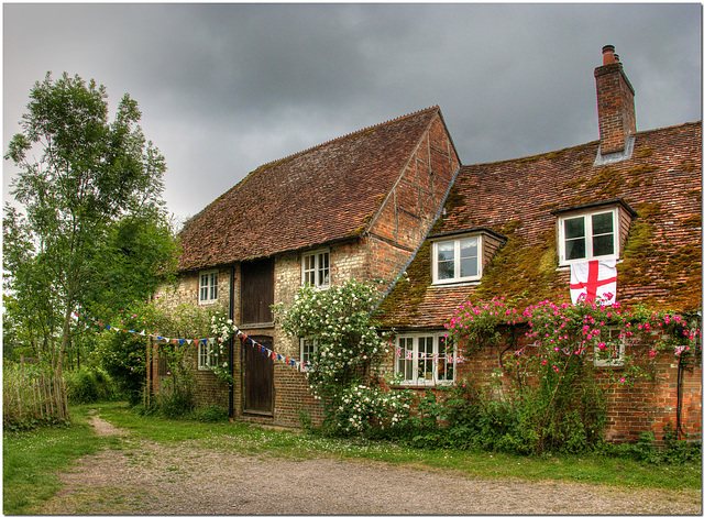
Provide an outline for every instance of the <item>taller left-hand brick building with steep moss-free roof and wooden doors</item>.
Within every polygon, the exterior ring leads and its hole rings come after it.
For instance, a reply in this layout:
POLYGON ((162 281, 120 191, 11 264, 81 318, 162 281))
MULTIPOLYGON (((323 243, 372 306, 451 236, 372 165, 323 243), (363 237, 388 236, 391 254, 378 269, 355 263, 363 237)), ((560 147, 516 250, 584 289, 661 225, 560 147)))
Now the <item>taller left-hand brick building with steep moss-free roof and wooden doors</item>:
MULTIPOLYGON (((436 221, 460 167, 438 107, 363 129, 252 172, 180 232, 170 302, 220 304, 257 343, 301 361, 306 343, 275 326, 272 305, 288 305, 304 284, 326 289, 348 279, 393 282, 436 221)), ((320 408, 305 375, 256 353, 233 350, 237 383, 208 370, 207 344, 193 351, 197 402, 233 417, 298 426, 320 408)), ((166 371, 155 343, 153 391, 166 371)))

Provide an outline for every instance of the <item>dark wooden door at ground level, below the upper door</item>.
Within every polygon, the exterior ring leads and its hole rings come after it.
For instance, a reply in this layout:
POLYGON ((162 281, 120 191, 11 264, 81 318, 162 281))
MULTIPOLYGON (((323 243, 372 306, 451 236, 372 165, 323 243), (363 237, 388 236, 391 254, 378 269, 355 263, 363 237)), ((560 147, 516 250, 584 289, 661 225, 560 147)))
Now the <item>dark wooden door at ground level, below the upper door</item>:
MULTIPOLYGON (((274 350, 274 340, 268 336, 251 336, 252 340, 274 350)), ((263 354, 249 340, 242 344, 244 354, 244 413, 272 415, 274 413, 274 361, 263 354)))

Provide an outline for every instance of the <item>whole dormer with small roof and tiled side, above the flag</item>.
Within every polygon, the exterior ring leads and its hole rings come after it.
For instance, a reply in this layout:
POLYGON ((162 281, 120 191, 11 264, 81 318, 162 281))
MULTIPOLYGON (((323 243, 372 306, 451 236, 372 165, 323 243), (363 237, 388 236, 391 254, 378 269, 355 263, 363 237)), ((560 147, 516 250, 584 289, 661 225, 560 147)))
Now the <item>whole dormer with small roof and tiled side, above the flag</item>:
POLYGON ((553 213, 558 215, 560 265, 617 260, 626 238, 625 232, 636 215, 623 201, 585 205, 553 213))

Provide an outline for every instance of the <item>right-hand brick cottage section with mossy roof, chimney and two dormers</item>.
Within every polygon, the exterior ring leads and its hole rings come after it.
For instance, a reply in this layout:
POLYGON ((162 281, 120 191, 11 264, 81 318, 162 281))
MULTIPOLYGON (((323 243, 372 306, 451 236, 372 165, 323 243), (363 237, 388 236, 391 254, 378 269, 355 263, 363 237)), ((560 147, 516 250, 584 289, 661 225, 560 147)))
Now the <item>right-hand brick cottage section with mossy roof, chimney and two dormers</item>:
MULTIPOLYGON (((403 351, 386 365, 402 385, 450 384, 465 375, 488 382, 527 338, 458 363, 470 344, 460 342, 433 362, 455 310, 495 297, 522 307, 570 301, 573 264, 615 264, 615 295, 625 307, 671 309, 693 323, 701 318, 701 121, 638 132, 624 66, 612 46, 603 59, 594 73, 600 140, 461 167, 407 268, 409 282, 397 283, 380 308, 382 326, 395 331, 403 351)), ((683 436, 700 436, 701 348, 686 359, 663 353, 656 367, 658 382, 609 392, 607 439, 660 437, 668 421, 683 436)))

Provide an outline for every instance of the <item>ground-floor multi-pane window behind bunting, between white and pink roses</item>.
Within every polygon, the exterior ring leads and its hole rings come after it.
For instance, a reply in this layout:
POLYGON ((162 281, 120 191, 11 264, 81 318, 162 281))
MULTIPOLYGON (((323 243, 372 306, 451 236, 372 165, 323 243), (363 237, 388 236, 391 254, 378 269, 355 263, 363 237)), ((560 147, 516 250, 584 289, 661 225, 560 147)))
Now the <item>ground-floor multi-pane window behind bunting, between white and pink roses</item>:
POLYGON ((454 382, 455 350, 444 334, 408 334, 396 339, 394 373, 404 385, 454 382))

